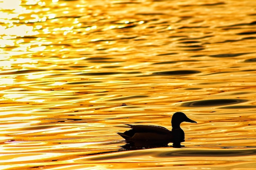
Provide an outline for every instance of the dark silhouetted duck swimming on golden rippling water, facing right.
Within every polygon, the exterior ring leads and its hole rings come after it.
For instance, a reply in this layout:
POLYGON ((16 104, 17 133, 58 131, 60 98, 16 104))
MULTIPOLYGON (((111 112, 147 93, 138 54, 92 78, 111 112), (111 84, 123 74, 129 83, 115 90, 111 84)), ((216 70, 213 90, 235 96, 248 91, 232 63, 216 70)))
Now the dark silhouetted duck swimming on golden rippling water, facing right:
POLYGON ((172 130, 168 130, 162 126, 153 125, 131 125, 126 124, 131 129, 123 133, 117 132, 118 135, 123 137, 128 144, 150 144, 167 146, 173 143, 174 148, 184 147, 181 142, 185 141, 185 133, 180 128, 182 122, 197 123, 189 119, 184 113, 176 112, 171 119, 172 130))

